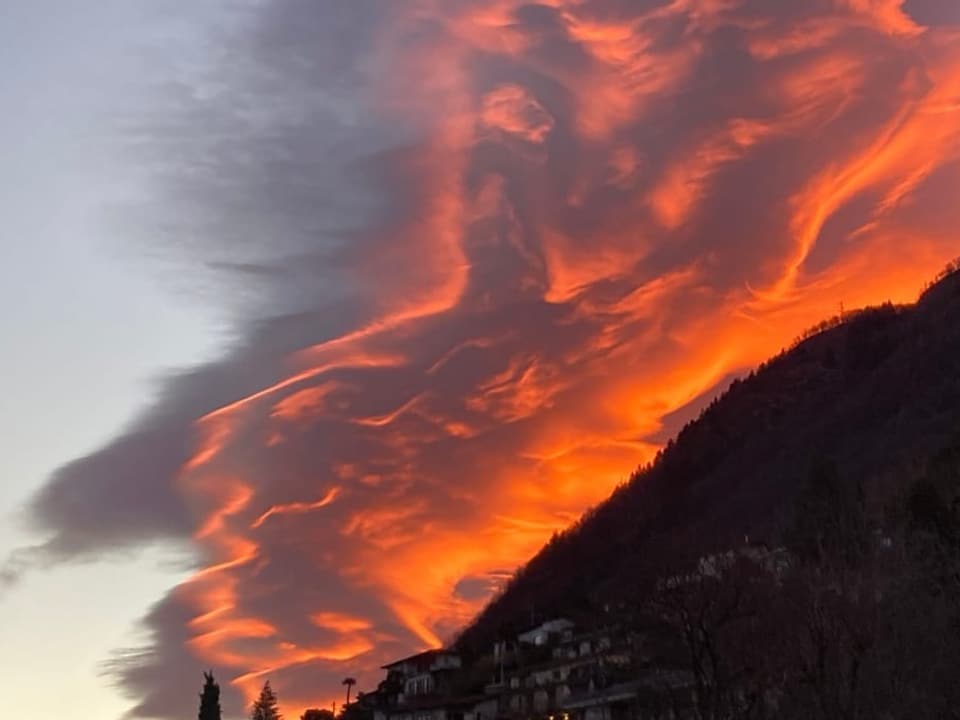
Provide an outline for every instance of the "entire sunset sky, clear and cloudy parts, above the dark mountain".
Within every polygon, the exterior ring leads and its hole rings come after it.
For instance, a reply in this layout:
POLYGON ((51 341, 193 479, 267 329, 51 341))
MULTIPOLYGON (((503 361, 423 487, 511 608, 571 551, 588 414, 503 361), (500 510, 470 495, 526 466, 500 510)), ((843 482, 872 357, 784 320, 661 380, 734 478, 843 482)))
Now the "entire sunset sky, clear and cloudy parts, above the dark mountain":
POLYGON ((0 47, 0 684, 41 720, 374 687, 960 254, 953 3, 10 0, 0 47))

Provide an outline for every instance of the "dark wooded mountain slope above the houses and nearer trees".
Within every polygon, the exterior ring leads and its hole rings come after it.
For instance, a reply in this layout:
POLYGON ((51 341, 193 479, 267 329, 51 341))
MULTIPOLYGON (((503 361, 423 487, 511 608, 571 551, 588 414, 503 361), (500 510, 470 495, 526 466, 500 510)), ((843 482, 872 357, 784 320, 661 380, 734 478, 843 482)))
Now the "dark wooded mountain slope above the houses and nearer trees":
MULTIPOLYGON (((873 532, 960 449, 960 271, 911 306, 825 326, 736 381, 604 504, 556 536, 457 640, 479 653, 508 628, 599 622, 653 578, 716 550, 781 544, 824 460, 862 497, 873 532)), ((953 476, 951 476, 953 477, 953 476)), ((944 489, 960 507, 960 487, 944 489)))

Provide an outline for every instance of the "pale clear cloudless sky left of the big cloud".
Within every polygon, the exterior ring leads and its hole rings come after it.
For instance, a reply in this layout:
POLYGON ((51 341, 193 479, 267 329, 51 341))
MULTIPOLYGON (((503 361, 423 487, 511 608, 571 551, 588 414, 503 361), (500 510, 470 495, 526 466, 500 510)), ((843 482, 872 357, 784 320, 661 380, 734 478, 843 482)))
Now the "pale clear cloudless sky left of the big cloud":
MULTIPOLYGON (((219 311, 106 221, 138 190, 112 135, 155 44, 159 6, 12 0, 0 7, 0 554, 37 542, 24 506, 64 459, 109 440, 174 369, 214 354, 219 311), (120 301, 122 299, 122 301, 120 301)), ((42 535, 40 536, 42 537, 42 535)), ((185 577, 183 550, 90 558, 0 590, 0 691, 32 717, 118 718, 103 675, 136 621, 185 577), (174 564, 176 563, 176 564, 174 564), (119 589, 118 591, 118 581, 119 589)))

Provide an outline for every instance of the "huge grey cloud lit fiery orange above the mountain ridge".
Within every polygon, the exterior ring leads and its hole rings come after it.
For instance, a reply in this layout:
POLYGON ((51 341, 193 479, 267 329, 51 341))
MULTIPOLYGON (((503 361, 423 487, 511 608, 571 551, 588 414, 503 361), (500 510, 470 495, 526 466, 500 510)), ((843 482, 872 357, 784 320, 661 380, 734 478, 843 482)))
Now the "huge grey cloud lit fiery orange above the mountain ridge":
POLYGON ((187 256, 266 309, 34 505, 38 557, 202 558, 117 665, 138 712, 186 712, 201 666, 247 699, 269 676, 290 715, 371 686, 731 375, 841 303, 913 299, 960 249, 958 23, 899 0, 251 11, 226 90, 175 89, 137 139, 187 256))

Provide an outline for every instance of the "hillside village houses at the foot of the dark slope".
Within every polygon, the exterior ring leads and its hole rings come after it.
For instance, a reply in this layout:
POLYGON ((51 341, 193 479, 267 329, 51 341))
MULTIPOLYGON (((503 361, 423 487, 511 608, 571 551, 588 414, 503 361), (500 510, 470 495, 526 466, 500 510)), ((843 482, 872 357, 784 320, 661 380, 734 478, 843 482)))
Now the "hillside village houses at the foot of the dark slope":
MULTIPOLYGON (((674 648, 676 662, 664 653, 668 628, 683 622, 683 604, 702 597, 709 585, 718 591, 719 607, 732 599, 723 596, 724 586, 733 588, 734 574, 776 578, 787 567, 786 557, 782 548, 760 545, 703 557, 688 572, 662 579, 658 596, 664 604, 659 613, 647 609, 643 618, 608 608, 609 621, 599 627, 550 619, 496 641, 471 661, 445 648, 398 659, 383 667, 386 677, 377 690, 361 693, 348 714, 372 720, 685 717, 710 685, 712 670, 691 669, 681 659, 683 648, 674 648)), ((695 644, 710 642, 709 630, 703 631, 691 638, 695 644)))

